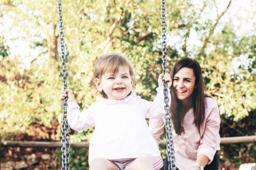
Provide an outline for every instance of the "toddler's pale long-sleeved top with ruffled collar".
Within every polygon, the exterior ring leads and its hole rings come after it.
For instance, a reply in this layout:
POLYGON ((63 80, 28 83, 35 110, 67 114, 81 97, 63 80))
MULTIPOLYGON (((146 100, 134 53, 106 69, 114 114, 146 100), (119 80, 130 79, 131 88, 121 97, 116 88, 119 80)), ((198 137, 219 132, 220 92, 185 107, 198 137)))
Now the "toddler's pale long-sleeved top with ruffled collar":
POLYGON ((122 100, 101 97, 82 113, 77 103, 70 102, 67 108, 72 129, 95 127, 90 139, 89 164, 97 157, 116 160, 146 156, 152 160, 154 169, 161 169, 163 160, 145 118, 164 114, 163 89, 159 88, 153 102, 133 93, 122 100))

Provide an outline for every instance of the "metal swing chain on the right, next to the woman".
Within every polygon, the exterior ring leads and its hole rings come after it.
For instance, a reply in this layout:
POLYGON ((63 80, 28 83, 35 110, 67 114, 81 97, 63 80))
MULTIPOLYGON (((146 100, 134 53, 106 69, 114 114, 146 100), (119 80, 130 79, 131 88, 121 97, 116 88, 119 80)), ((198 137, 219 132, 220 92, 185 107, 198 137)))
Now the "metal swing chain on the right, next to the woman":
MULTIPOLYGON (((162 60, 163 60, 163 73, 166 73, 166 22, 165 22, 165 0, 162 0, 162 60)), ((168 97, 168 85, 167 82, 164 81, 164 110, 166 111, 165 115, 165 131, 166 131, 166 156, 168 159, 168 169, 176 169, 175 166, 175 157, 174 157, 174 146, 173 146, 173 136, 172 136, 172 121, 170 114, 170 106, 169 106, 169 97, 168 97)))

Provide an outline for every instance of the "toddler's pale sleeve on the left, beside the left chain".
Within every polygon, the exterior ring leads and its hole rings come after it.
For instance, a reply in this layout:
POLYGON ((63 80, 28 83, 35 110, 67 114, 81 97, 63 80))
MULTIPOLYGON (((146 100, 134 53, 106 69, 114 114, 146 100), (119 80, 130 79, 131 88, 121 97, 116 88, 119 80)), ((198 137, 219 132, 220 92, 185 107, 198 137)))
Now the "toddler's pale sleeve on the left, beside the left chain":
POLYGON ((95 126, 94 113, 92 109, 80 111, 79 106, 75 102, 68 103, 67 121, 71 129, 82 131, 88 127, 95 126))

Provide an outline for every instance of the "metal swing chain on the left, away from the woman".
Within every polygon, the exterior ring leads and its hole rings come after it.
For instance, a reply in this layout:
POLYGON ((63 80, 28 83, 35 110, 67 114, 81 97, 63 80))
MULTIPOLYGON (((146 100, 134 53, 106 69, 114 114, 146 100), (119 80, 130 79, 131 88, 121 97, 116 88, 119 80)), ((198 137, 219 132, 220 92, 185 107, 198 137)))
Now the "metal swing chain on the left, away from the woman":
MULTIPOLYGON (((66 70, 66 56, 65 56, 65 41, 64 41, 64 32, 63 32, 63 18, 62 18, 62 7, 61 7, 61 0, 58 0, 58 8, 59 8, 59 22, 60 22, 60 45, 61 45, 61 66, 63 67, 62 74, 63 74, 63 89, 67 89, 67 70, 66 70)), ((63 118, 62 118, 62 125, 61 125, 61 170, 69 170, 70 165, 70 134, 69 130, 70 127, 67 122, 67 97, 63 100, 63 118)))

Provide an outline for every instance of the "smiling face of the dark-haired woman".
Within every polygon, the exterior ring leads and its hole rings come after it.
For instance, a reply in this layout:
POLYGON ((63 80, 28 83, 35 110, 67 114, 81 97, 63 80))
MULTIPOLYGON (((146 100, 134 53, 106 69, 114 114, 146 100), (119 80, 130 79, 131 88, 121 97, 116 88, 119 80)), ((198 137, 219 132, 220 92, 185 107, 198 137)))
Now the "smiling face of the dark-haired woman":
POLYGON ((193 69, 182 67, 173 77, 173 88, 177 98, 182 103, 190 103, 192 101, 191 94, 195 89, 195 74, 193 69))

